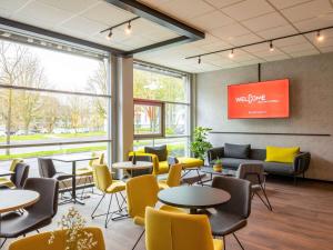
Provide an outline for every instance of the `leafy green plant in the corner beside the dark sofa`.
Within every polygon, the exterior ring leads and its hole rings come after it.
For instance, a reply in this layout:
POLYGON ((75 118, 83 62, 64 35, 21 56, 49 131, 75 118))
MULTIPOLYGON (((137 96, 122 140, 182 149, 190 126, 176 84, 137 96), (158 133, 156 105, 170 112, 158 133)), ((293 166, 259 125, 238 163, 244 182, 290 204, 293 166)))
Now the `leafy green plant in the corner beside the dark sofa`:
POLYGON ((196 127, 194 129, 193 141, 191 142, 190 149, 195 158, 204 160, 206 151, 213 147, 206 139, 211 130, 210 128, 203 127, 196 127))

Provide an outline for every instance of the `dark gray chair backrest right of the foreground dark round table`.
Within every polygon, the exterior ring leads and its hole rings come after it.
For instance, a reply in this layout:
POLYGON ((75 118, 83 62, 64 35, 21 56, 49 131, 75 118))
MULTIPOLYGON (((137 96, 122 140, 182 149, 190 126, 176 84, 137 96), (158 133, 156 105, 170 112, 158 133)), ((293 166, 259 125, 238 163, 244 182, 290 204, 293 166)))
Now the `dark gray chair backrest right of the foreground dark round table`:
POLYGON ((216 209, 225 212, 236 213, 246 219, 251 213, 251 183, 231 177, 214 177, 213 188, 223 189, 231 198, 228 202, 216 209))

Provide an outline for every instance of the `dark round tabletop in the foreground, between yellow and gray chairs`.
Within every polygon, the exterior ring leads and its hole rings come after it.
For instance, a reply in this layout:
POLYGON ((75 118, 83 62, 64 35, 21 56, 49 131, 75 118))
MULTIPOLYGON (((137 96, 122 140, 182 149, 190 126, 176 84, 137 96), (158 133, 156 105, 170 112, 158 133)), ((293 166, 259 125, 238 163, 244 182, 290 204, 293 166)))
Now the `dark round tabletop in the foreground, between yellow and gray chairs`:
POLYGON ((230 193, 210 187, 175 187, 159 192, 161 202, 190 209, 190 213, 198 213, 198 209, 215 208, 230 200, 230 193))

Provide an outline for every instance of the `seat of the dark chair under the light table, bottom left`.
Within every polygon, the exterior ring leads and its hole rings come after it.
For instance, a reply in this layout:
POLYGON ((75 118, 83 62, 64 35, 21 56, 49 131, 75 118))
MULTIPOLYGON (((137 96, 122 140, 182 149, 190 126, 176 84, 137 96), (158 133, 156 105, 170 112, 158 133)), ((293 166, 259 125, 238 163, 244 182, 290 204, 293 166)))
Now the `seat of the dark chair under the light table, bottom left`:
POLYGON ((47 214, 10 212, 1 218, 1 238, 17 238, 50 224, 52 219, 47 214))

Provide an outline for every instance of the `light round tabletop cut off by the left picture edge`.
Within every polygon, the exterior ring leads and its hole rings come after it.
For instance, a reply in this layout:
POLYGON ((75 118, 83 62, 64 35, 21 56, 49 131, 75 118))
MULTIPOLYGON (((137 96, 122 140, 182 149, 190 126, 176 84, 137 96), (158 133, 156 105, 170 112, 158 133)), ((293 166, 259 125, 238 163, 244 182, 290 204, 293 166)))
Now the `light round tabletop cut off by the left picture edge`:
POLYGON ((36 203, 39 193, 31 190, 0 190, 0 213, 14 211, 36 203))

